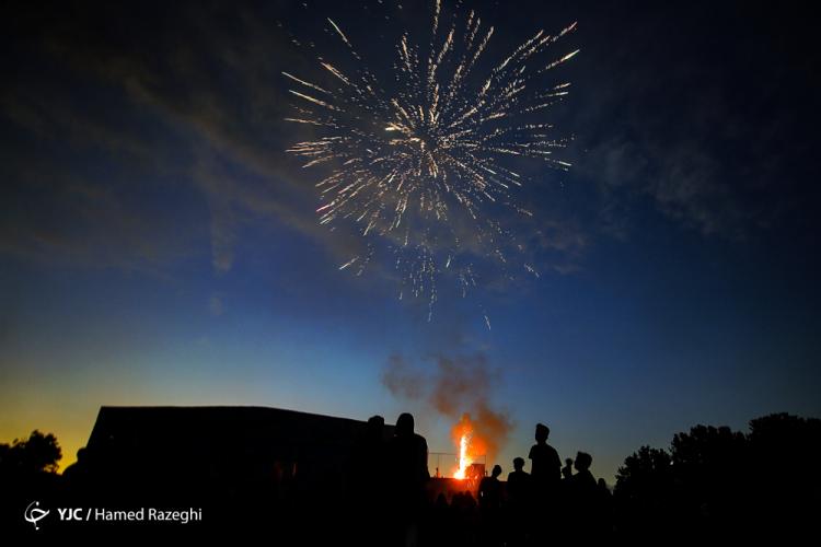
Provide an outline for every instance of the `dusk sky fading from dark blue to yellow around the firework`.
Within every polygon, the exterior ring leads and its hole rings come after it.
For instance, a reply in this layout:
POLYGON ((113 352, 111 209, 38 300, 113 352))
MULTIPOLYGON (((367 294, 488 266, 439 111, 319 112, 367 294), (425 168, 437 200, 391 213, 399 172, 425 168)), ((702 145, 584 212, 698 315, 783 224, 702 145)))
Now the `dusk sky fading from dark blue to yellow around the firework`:
POLYGON ((513 423, 506 473, 537 421, 612 481, 696 423, 821 415, 814 19, 719 4, 465 1, 496 27, 489 60, 578 21, 545 113, 574 166, 528 167, 541 278, 488 272, 464 299, 446 278, 428 322, 390 259, 338 269, 360 243, 319 224, 322 170, 286 153, 281 71, 317 73, 289 34, 333 51, 328 16, 388 66, 430 2, 11 2, 0 441, 54 432, 65 467, 101 405, 262 405, 410 410, 453 452, 451 417, 389 389, 396 363, 423 391, 442 362, 484 379, 513 423))

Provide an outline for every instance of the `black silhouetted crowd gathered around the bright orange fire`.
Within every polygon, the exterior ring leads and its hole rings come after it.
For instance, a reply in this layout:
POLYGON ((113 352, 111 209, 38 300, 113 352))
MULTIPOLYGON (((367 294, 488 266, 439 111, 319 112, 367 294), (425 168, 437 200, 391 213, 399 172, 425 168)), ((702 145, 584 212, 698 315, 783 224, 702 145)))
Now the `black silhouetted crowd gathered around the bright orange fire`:
POLYGON ((351 508, 357 508, 351 522, 362 515, 366 545, 516 547, 557 537, 602 540, 613 532, 612 494, 590 473, 592 456, 579 452, 562 467, 543 423, 536 424, 529 454, 531 473, 517 457, 507 482, 495 465, 477 489, 465 481, 451 499, 439 492, 432 500, 427 443, 414 433, 413 417, 400 416, 386 442, 380 437, 383 419, 373 417, 369 424, 354 457, 358 473, 349 481, 351 508))

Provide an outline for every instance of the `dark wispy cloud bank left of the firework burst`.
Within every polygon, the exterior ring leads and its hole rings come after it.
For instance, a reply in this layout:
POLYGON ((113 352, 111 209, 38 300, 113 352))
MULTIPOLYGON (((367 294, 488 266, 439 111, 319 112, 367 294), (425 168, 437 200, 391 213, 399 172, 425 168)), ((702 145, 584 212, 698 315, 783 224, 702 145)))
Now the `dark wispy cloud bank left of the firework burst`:
POLYGON ((183 216, 164 219, 135 199, 129 187, 139 184, 153 191, 173 179, 174 185, 193 183, 193 190, 205 197, 218 274, 231 269, 243 223, 266 217, 324 242, 342 259, 348 251, 342 238, 315 221, 312 185, 282 165, 285 144, 278 140, 278 124, 271 124, 280 117, 278 72, 266 57, 285 50, 276 35, 263 33, 253 18, 240 13, 244 31, 254 36, 213 39, 220 30, 212 23, 204 26, 208 18, 197 10, 187 21, 203 43, 194 47, 176 33, 160 35, 167 55, 153 57, 158 51, 146 50, 142 42, 106 36, 93 26, 90 13, 79 21, 67 15, 67 22, 89 26, 86 34, 51 22, 47 30, 32 28, 27 40, 38 62, 57 62, 65 78, 95 85, 111 104, 60 90, 47 77, 21 78, 0 95, 0 116, 48 144, 46 153, 4 164, 4 201, 30 214, 3 216, 0 248, 44 259, 65 248, 74 259, 124 267, 190 253, 197 244, 193 235, 201 230, 186 226, 190 219, 183 216), (254 48, 253 55, 243 48, 254 48), (230 77, 230 88, 215 85, 215 69, 230 77), (119 95, 112 96, 117 89, 119 95), (118 115, 107 116, 116 107, 118 115), (159 123, 167 132, 158 139, 140 127, 144 121, 159 123), (173 155, 167 147, 174 148, 173 155), (101 176, 79 168, 83 156, 112 164, 112 171, 101 176))

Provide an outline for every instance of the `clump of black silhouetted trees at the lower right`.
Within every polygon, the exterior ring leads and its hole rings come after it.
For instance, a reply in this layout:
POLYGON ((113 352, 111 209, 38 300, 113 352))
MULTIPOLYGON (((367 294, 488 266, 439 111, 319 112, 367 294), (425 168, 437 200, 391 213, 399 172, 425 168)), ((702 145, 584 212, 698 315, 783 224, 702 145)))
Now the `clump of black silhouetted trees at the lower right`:
POLYGON ((616 475, 616 526, 623 535, 690 534, 799 537, 821 512, 821 420, 786 414, 750 422, 750 433, 696 426, 670 452, 643 446, 616 475), (785 465, 786 464, 786 465, 785 465))

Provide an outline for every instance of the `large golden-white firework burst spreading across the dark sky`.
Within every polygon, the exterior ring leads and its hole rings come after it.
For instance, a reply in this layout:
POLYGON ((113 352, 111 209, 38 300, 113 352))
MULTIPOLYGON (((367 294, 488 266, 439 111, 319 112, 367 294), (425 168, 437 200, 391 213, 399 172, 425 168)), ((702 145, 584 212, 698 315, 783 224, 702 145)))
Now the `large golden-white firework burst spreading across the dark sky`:
MULTIPOLYGON (((288 149, 307 160, 303 167, 329 165, 329 174, 316 183, 323 200, 316 210, 320 223, 348 220, 365 237, 386 238, 402 276, 400 298, 405 292, 427 295, 429 318, 436 281, 444 270, 454 272, 465 295, 477 284, 472 256, 508 265, 514 260, 505 247, 523 249, 499 222, 500 207, 532 217, 510 191, 524 177, 505 163, 527 158, 563 171, 570 166, 554 158, 567 139, 552 137, 552 125, 532 118, 567 95, 570 85, 545 85, 540 78, 579 51, 543 59, 576 23, 555 36, 540 31, 471 89, 470 77, 494 27, 483 30, 473 11, 461 33, 455 13, 450 24, 442 18, 441 0, 436 0, 427 55, 407 33, 402 35, 393 72, 383 78, 392 81, 393 93, 384 91, 331 19, 333 33, 352 59, 343 66, 317 55, 333 85, 282 72, 296 84, 289 92, 300 100, 292 105, 297 114, 286 120, 324 131, 288 149), (464 237, 465 224, 473 242, 464 237)), ((357 265, 361 275, 372 254, 369 243, 367 256, 354 256, 339 269, 357 265)), ((539 277, 531 264, 519 266, 539 277)))

